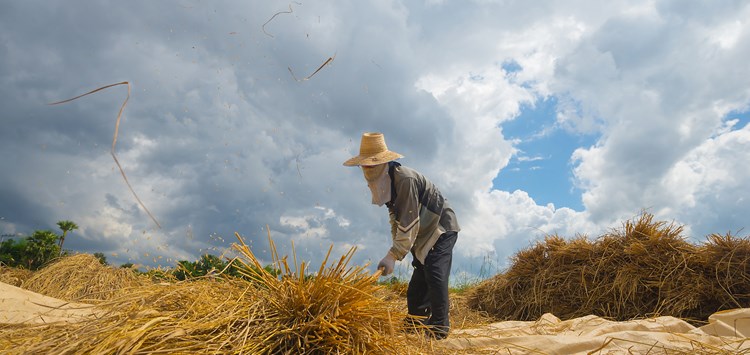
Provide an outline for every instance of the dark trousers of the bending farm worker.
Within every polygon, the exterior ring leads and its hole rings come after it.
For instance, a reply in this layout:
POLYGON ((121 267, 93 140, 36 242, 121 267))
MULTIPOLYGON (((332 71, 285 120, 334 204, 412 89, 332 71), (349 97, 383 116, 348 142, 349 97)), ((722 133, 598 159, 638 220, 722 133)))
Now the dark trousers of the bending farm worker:
POLYGON ((448 277, 458 232, 445 232, 427 253, 424 265, 412 253, 414 272, 406 291, 409 314, 426 317, 425 324, 440 338, 448 335, 448 277))

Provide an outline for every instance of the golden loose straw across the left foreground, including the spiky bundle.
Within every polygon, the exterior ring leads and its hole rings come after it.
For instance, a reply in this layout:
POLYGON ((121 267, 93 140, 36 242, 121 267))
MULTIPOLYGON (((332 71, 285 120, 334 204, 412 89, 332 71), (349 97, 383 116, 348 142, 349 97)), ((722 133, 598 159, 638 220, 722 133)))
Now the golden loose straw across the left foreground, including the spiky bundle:
POLYGON ((297 277, 309 275, 305 264, 295 260, 290 268, 271 241, 274 265, 281 271, 277 276, 237 237, 237 262, 247 279, 150 283, 114 293, 78 287, 73 298, 111 297, 96 303, 95 319, 0 325, 0 349, 45 354, 349 354, 414 353, 426 346, 424 338, 403 331, 405 314, 384 301, 378 274, 348 266, 354 249, 330 266, 326 258, 314 277, 297 277))

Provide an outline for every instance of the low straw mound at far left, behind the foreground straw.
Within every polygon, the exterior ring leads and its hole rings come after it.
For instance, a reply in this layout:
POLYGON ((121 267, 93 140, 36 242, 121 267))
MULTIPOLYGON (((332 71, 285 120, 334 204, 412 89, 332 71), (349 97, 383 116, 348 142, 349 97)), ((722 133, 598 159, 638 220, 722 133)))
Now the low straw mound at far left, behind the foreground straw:
POLYGON ((102 265, 91 254, 66 256, 35 272, 23 288, 68 301, 96 302, 151 281, 131 269, 102 265))

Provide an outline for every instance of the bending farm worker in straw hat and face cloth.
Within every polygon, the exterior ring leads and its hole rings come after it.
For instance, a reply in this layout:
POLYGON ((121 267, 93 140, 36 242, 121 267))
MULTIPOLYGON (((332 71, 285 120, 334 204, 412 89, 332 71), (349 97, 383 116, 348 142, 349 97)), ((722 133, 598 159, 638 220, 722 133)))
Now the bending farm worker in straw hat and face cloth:
POLYGON ((382 133, 364 133, 359 155, 345 166, 360 166, 372 203, 388 207, 393 243, 378 263, 382 275, 396 260, 412 254, 406 291, 409 314, 417 316, 436 339, 448 336, 448 276, 453 246, 460 230, 456 214, 438 188, 419 172, 395 162, 401 154, 388 150, 382 133))

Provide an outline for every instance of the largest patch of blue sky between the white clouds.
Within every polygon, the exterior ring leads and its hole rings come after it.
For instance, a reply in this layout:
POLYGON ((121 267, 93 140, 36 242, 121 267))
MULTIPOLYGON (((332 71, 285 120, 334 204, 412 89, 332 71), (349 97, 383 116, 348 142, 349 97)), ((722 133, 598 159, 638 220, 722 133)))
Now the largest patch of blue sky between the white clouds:
POLYGON ((582 191, 573 184, 570 157, 577 148, 592 146, 595 136, 573 135, 555 126, 557 100, 539 99, 516 119, 502 125, 506 139, 515 140, 517 154, 493 180, 493 188, 526 191, 538 205, 554 204, 583 211, 582 191))

